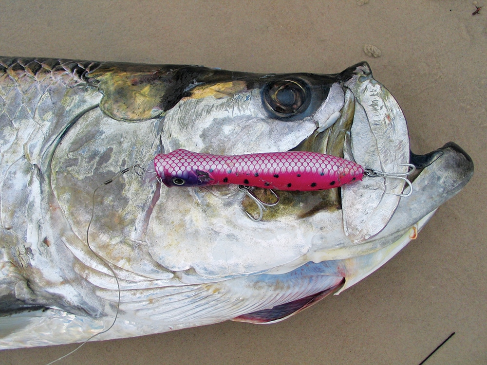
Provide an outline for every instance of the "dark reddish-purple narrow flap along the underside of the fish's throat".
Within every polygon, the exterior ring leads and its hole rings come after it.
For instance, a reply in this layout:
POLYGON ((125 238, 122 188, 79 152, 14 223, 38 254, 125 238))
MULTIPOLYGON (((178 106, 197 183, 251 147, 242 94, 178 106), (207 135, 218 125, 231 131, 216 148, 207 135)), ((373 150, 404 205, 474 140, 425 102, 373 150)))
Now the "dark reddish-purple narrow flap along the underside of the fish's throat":
POLYGON ((340 283, 338 283, 337 285, 334 285, 333 287, 328 288, 324 291, 305 296, 304 298, 298 300, 293 300, 289 303, 275 306, 271 309, 257 310, 252 313, 239 315, 238 317, 233 318, 232 321, 248 322, 255 324, 269 324, 280 322, 286 318, 295 315, 296 313, 299 313, 302 310, 305 310, 306 308, 311 307, 312 305, 318 303, 324 297, 334 292, 337 292, 344 284, 345 278, 343 278, 342 281, 340 281, 340 283))

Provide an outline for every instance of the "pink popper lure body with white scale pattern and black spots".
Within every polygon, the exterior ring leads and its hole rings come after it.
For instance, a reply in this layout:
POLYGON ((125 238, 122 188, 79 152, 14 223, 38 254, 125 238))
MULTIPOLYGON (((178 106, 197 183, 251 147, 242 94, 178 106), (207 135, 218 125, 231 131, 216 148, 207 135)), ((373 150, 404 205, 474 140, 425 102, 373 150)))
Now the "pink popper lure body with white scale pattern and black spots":
POLYGON ((154 167, 169 187, 238 184, 311 191, 362 180, 364 174, 352 161, 308 151, 219 156, 177 149, 157 155, 154 167))

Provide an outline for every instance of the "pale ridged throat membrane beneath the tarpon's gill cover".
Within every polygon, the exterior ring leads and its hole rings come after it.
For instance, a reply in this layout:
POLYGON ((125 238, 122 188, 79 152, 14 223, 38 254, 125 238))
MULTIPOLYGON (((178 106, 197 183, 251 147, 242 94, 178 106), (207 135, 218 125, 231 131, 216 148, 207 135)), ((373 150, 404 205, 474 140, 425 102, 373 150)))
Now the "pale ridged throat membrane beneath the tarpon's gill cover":
MULTIPOLYGON (((307 298, 281 314, 279 317, 283 319, 338 290, 344 279, 337 265, 337 262, 310 262, 284 274, 256 274, 200 284, 167 283, 165 287, 131 288, 120 292, 119 308, 123 313, 132 312, 140 323, 147 321, 147 326, 162 323, 170 325, 170 329, 179 329, 238 318, 246 313, 307 298)), ((117 290, 98 288, 95 293, 105 300, 118 300, 117 290)), ((140 330, 137 333, 141 334, 140 330)))

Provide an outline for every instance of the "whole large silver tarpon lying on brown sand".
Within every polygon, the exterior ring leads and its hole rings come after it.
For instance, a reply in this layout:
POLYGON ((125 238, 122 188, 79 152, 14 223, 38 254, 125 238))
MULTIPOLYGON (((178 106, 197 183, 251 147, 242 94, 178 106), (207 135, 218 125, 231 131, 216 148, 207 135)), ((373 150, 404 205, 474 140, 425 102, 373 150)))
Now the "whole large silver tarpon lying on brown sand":
POLYGON ((2 57, 0 98, 0 348, 281 321, 382 266, 473 174, 454 143, 410 152, 365 62, 255 74, 2 57), (231 156, 253 156, 244 180, 231 156), (355 180, 334 180, 344 165, 355 180), (266 187, 279 203, 248 219, 266 187))

